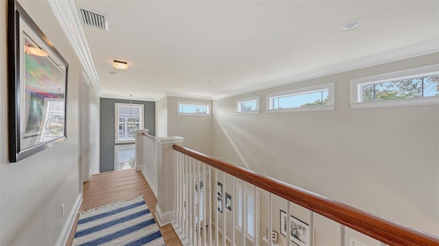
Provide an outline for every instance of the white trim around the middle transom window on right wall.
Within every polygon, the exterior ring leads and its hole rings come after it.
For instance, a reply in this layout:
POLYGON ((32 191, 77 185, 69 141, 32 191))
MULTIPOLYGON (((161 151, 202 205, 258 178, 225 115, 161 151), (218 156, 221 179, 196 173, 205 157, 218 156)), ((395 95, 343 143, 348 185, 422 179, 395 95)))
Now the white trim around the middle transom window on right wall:
POLYGON ((334 105, 334 83, 320 84, 318 86, 309 86, 304 88, 298 88, 294 90, 286 90, 278 93, 267 94, 267 112, 268 113, 283 113, 283 112, 312 112, 312 111, 331 111, 335 109, 334 105), (328 104, 322 106, 307 106, 307 107, 296 107, 296 108, 278 108, 272 109, 271 97, 278 96, 290 96, 290 95, 301 95, 307 93, 319 92, 322 90, 328 90, 328 104))

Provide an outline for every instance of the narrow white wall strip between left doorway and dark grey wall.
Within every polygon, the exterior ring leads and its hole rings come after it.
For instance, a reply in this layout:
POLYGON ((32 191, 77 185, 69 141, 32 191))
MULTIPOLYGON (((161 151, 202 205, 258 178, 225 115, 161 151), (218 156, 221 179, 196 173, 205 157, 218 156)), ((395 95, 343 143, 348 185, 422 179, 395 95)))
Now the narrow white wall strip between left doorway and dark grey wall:
POLYGON ((90 166, 91 174, 99 173, 99 115, 100 115, 100 105, 99 105, 99 94, 97 93, 93 85, 90 88, 90 166))

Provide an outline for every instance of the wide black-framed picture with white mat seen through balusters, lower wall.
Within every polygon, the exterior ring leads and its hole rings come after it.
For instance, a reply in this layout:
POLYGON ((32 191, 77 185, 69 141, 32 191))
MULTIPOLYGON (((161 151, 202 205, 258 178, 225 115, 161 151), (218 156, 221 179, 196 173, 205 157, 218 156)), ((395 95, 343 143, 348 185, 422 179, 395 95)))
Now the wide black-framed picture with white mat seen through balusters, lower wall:
POLYGON ((281 234, 287 236, 287 232, 289 232, 291 233, 291 241, 293 243, 299 246, 309 246, 309 225, 291 215, 290 224, 287 226, 287 213, 281 210, 280 215, 281 234))

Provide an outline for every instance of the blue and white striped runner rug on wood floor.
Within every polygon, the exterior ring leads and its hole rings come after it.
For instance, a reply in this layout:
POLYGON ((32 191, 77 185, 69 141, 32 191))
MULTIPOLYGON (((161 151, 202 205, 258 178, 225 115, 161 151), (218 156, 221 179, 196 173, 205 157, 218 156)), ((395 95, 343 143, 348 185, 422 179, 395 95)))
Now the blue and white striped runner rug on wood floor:
POLYGON ((143 196, 80 212, 72 245, 163 246, 143 196))

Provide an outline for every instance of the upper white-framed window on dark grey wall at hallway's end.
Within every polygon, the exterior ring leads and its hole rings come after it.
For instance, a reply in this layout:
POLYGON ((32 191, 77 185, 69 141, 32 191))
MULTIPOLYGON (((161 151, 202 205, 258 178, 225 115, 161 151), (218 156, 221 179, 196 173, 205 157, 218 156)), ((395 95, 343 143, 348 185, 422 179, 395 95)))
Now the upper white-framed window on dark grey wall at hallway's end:
POLYGON ((115 142, 135 139, 135 130, 143 129, 143 104, 115 103, 115 142))

